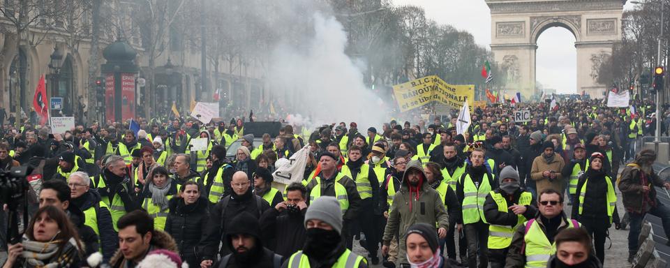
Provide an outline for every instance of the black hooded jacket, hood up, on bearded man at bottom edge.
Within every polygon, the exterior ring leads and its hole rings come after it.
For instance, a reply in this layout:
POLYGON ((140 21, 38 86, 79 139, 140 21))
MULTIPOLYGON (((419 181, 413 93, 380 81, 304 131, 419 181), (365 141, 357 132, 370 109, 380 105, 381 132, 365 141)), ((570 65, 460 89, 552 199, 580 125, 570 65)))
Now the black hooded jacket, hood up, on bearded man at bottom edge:
MULTIPOLYGON (((255 239, 253 248, 248 248, 246 253, 230 253, 221 258, 218 267, 274 267, 275 254, 263 246, 260 239, 260 226, 258 219, 248 212, 242 212, 230 221, 231 227, 225 236, 225 243, 228 248, 234 248, 232 245, 232 234, 249 234, 255 239), (225 262, 228 260, 228 262, 225 262)), ((281 255, 277 258, 280 259, 281 255)))

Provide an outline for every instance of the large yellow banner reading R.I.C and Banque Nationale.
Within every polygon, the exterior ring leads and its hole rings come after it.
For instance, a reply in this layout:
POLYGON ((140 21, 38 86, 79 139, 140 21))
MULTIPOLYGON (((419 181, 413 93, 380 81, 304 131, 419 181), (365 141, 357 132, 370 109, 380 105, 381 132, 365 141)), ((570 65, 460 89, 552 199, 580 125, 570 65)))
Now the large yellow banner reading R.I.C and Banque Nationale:
POLYGON ((393 91, 401 112, 421 107, 433 101, 438 101, 454 109, 460 109, 464 101, 475 98, 475 85, 447 84, 437 75, 429 75, 403 84, 396 84, 393 91))

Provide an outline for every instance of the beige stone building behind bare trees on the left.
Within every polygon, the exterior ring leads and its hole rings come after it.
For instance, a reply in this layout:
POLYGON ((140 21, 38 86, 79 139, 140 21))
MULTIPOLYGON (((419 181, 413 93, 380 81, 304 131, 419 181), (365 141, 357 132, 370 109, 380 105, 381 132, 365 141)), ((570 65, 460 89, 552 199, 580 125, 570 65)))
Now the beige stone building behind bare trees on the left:
MULTIPOLYGON (((35 1, 36 0, 25 0, 35 1)), ((82 0, 84 1, 84 0, 82 0)), ((9 1, 0 2, 1 8, 8 8, 17 5, 19 2, 9 3, 9 1)), ((132 1, 131 1, 132 2, 132 1)), ((119 8, 120 10, 131 10, 137 8, 136 4, 124 1, 110 1, 103 3, 128 5, 128 8, 119 8)), ((40 10, 31 9, 30 14, 38 20, 31 22, 29 27, 22 34, 17 35, 13 27, 14 18, 9 15, 0 14, 0 24, 4 31, 0 31, 0 105, 6 109, 8 114, 19 115, 21 110, 29 113, 35 94, 38 81, 41 75, 45 75, 47 87, 47 100, 52 97, 63 98, 62 109, 52 110, 51 114, 74 115, 77 118, 82 117, 83 112, 95 113, 95 109, 85 107, 89 98, 96 98, 95 94, 89 94, 89 58, 91 55, 91 12, 90 10, 80 10, 81 16, 77 17, 75 22, 71 22, 77 31, 73 34, 73 27, 70 24, 54 20, 52 17, 38 16, 40 10), (69 28, 69 29, 68 29, 69 28), (20 38, 20 42, 17 42, 20 38), (18 45, 20 43, 20 46, 18 45), (20 48, 18 48, 20 47, 20 48), (58 54, 62 57, 59 61, 52 61, 54 47, 57 47, 58 54), (20 64, 23 62, 24 64, 20 64), (57 79, 54 76, 54 69, 50 68, 52 62, 58 63, 57 79), (57 86, 54 86, 57 84, 57 86)), ((140 72, 136 75, 136 94, 137 111, 142 112, 146 103, 144 94, 149 87, 149 57, 142 44, 140 31, 135 28, 137 25, 132 22, 133 13, 119 12, 117 21, 123 21, 118 25, 126 29, 101 29, 101 43, 99 45, 98 68, 95 79, 101 77, 100 66, 105 64, 103 50, 112 41, 123 36, 124 40, 137 50, 135 64, 140 66, 140 72), (147 81, 142 85, 142 80, 147 81)), ((31 16, 28 16, 31 17, 31 16)), ((209 91, 202 91, 201 71, 200 71, 200 53, 199 48, 188 47, 181 40, 178 34, 168 34, 165 39, 168 45, 155 60, 155 87, 156 87, 156 110, 154 114, 161 112, 166 108, 169 111, 172 101, 176 102, 181 111, 187 111, 191 101, 212 102, 212 95, 217 88, 221 89, 221 107, 228 103, 234 105, 259 107, 260 102, 255 98, 267 94, 266 84, 262 80, 264 77, 258 64, 228 63, 220 61, 218 73, 213 72, 214 66, 208 61, 207 70, 209 77, 209 91), (179 43, 176 45, 174 43, 179 43), (168 64, 170 61, 170 64, 168 64), (233 67, 233 68, 229 68, 233 67)), ((52 66, 55 67, 55 66, 52 66)), ((104 81, 104 80, 103 80, 104 81)), ((103 82, 104 83, 104 82, 103 82)), ((93 91, 95 92, 95 91, 93 91)), ((104 108, 103 108, 104 110, 104 108)), ((183 113, 182 113, 183 114, 183 113)), ((140 114, 136 114, 139 116, 140 114)))

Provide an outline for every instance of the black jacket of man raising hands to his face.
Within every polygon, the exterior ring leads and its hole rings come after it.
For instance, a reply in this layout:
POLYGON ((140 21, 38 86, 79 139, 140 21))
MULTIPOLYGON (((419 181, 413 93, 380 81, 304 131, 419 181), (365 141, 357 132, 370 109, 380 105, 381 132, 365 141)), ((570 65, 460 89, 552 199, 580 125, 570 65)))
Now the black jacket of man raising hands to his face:
POLYGON ((274 207, 267 209, 260 217, 263 244, 275 253, 288 257, 302 249, 305 244, 305 212, 292 216, 286 211, 279 212, 274 207))

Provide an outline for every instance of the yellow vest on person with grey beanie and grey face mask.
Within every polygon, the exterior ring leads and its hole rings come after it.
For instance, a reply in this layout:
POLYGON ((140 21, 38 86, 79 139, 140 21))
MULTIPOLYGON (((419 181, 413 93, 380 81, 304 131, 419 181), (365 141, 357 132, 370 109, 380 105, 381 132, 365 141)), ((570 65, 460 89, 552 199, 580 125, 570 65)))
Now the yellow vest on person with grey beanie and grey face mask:
MULTIPOLYGON (((498 211, 507 213, 507 207, 509 207, 509 205, 507 204, 505 197, 503 197, 502 194, 496 193, 494 191, 491 191, 490 194, 491 198, 493 198, 493 201, 496 201, 496 204, 498 205, 498 211)), ((528 192, 521 193, 521 197, 519 197, 519 205, 530 205, 531 201, 533 201, 533 195, 528 192)), ((489 248, 508 248, 509 245, 512 244, 514 230, 516 230, 519 225, 522 225, 523 222, 526 221, 526 218, 523 215, 519 214, 516 216, 518 219, 516 221, 516 225, 514 226, 494 224, 489 225, 489 248)))

